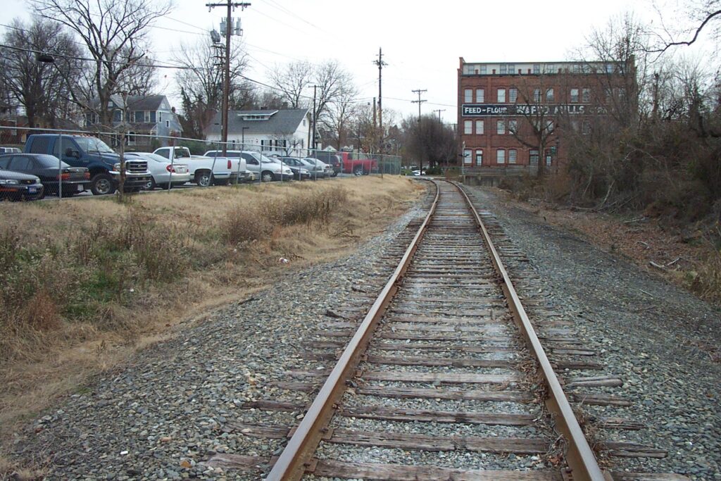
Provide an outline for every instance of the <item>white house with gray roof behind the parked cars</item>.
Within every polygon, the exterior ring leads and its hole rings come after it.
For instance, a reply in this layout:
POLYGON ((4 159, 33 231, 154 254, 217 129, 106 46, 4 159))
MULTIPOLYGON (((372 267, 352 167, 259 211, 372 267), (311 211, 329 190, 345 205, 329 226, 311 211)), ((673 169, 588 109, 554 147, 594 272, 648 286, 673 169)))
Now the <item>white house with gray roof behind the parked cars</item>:
MULTIPOLYGON (((311 141, 311 123, 308 109, 231 110, 228 112, 228 148, 305 156, 311 141)), ((220 112, 205 129, 205 139, 221 140, 220 112)))

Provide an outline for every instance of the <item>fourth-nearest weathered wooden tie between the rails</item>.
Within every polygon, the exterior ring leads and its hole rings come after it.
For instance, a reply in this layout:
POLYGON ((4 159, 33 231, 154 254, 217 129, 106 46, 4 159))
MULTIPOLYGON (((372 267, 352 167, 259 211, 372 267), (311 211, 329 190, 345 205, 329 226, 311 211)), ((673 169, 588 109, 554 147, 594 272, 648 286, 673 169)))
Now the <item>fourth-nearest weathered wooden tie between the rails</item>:
POLYGON ((357 394, 365 396, 394 397, 443 400, 472 400, 490 402, 521 402, 527 403, 534 400, 531 393, 522 391, 485 391, 473 389, 465 391, 451 391, 448 389, 426 389, 411 387, 386 387, 386 386, 360 386, 355 389, 357 394))

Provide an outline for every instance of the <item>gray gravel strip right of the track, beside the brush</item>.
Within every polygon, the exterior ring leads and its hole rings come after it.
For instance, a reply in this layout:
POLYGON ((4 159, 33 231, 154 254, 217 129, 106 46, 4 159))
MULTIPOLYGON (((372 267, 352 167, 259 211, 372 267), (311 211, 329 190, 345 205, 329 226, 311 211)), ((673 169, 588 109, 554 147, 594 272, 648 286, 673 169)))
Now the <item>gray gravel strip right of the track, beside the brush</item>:
MULTIPOLYGON (((668 451, 665 459, 619 459, 614 469, 677 472, 694 480, 721 479, 721 364, 699 345, 719 345, 721 313, 681 288, 603 252, 532 213, 515 208, 495 191, 470 189, 476 204, 495 214, 513 245, 531 261, 521 294, 540 299, 531 309, 539 319, 572 320, 598 351, 603 371, 619 388, 609 392, 631 407, 585 406, 585 412, 642 423, 640 431, 601 430, 599 438, 633 441, 668 451), (534 279, 535 278, 535 279, 534 279)), ((518 286, 517 286, 518 287, 518 286)), ((572 391, 572 389, 569 389, 572 391)))

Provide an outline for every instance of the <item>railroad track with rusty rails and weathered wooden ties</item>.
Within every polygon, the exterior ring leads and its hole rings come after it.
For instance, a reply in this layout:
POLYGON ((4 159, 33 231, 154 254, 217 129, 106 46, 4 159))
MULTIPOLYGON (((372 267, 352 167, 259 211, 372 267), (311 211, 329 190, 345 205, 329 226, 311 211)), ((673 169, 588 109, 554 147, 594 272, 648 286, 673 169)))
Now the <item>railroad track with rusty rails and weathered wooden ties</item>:
MULTIPOLYGON (((550 318, 538 325, 528 318, 501 261, 523 262, 523 255, 458 185, 433 185, 433 206, 412 239, 407 235, 402 255, 391 252, 400 259, 379 296, 359 295, 366 305, 325 323, 322 338, 304 356, 337 362, 288 372, 294 380, 283 387, 317 393, 313 402, 244 406, 301 411, 300 423, 226 426, 246 436, 289 438, 279 455, 216 454, 207 464, 255 470, 273 481, 686 479, 601 469, 598 452, 606 464, 613 456, 665 453, 586 438, 563 387, 621 381, 572 375, 598 364, 578 360, 589 351, 568 322, 550 318), (367 314, 354 317, 361 308, 367 314), (552 349, 553 362, 544 346, 552 349), (559 366, 565 379, 554 371, 559 366)), ((603 405, 617 400, 578 390, 570 399, 603 405)), ((594 423, 640 428, 619 418, 594 423)))

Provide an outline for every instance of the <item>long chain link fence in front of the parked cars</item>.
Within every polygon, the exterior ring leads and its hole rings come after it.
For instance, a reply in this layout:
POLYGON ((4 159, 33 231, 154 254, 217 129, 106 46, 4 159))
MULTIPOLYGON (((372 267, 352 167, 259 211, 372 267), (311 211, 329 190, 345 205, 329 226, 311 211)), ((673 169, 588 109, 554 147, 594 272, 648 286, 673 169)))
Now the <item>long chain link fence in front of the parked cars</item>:
MULTIPOLYGON (((224 149, 217 140, 141 134, 130 128, 92 131, 1 123, 0 169, 38 177, 44 186, 40 197, 402 173, 400 156, 300 149, 285 141, 230 141, 224 149)), ((32 198, 31 193, 21 195, 32 198)))

